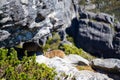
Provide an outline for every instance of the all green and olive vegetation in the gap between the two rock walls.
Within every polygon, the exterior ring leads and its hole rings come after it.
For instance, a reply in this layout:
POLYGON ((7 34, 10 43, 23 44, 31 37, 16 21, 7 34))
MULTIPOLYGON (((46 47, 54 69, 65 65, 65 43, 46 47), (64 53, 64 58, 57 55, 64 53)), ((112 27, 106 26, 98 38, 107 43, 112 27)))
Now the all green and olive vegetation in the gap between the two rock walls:
POLYGON ((55 50, 55 49, 60 49, 63 50, 65 52, 66 55, 69 54, 77 54, 80 55, 88 60, 92 60, 94 57, 91 56, 90 54, 86 53, 85 51, 83 51, 82 49, 77 48, 74 45, 74 40, 72 37, 67 35, 67 40, 70 41, 73 45, 60 45, 60 37, 57 33, 53 34, 53 38, 49 38, 46 42, 44 49, 44 52, 46 52, 47 50, 55 50))

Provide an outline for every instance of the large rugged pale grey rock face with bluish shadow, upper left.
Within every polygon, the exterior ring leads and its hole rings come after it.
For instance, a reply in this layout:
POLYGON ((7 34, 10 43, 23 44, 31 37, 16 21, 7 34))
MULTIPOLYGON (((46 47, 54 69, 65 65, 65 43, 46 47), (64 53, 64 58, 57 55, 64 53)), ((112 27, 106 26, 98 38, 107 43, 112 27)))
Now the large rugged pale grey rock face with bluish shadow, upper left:
POLYGON ((0 0, 0 47, 42 41, 75 17, 72 0, 0 0), (5 34, 6 36, 4 36, 5 34))

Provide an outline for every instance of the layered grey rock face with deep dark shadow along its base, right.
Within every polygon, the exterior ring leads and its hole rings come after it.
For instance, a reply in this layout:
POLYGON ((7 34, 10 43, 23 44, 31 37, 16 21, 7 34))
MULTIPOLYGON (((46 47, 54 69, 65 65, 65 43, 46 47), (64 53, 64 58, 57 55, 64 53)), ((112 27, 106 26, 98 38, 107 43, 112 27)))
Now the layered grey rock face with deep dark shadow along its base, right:
POLYGON ((80 11, 79 15, 79 19, 73 19, 71 27, 66 30, 76 45, 98 57, 120 58, 120 36, 115 30, 114 17, 88 11, 80 11))

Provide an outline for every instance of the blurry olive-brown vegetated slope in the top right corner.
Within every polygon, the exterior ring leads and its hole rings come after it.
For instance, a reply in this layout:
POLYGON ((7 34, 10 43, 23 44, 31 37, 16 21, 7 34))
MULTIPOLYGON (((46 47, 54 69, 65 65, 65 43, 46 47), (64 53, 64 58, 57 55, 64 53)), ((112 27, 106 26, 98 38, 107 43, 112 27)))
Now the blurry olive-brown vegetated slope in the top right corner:
POLYGON ((91 0, 91 3, 96 4, 96 8, 92 11, 114 14, 120 21, 120 0, 91 0))

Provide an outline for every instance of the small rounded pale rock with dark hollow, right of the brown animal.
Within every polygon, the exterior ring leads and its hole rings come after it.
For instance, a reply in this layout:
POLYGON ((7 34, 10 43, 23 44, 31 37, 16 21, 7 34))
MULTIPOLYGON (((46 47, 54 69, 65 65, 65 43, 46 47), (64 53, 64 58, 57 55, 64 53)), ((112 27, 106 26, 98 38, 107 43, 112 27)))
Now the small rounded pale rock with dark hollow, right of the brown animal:
POLYGON ((70 55, 66 56, 64 59, 69 60, 71 64, 89 66, 89 61, 79 55, 70 54, 70 55))

